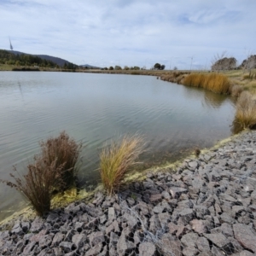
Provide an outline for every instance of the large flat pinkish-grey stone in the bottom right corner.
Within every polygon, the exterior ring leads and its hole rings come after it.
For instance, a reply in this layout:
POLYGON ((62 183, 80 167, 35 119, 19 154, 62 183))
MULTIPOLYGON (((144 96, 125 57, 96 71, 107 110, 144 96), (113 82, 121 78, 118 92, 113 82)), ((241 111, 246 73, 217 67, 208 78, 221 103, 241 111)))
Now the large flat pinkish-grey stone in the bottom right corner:
POLYGON ((256 253, 255 233, 245 224, 234 224, 233 230, 234 236, 240 242, 241 246, 256 253))

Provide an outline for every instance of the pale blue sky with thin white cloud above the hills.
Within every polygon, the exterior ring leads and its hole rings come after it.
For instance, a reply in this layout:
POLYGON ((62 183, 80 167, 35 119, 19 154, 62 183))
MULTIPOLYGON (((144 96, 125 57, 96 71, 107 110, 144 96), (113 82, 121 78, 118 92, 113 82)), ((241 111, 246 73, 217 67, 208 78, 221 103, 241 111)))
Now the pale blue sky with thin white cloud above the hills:
POLYGON ((210 67, 256 54, 255 0, 0 0, 0 49, 75 64, 210 67), (192 59, 193 58, 193 59, 192 59))

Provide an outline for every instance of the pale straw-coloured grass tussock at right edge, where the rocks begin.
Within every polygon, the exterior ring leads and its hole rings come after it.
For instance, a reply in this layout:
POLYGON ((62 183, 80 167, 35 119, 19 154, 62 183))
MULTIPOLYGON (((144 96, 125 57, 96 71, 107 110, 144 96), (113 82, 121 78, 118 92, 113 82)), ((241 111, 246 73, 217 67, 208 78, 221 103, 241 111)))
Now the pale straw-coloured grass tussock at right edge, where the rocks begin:
POLYGON ((256 101, 248 91, 243 91, 236 102, 236 122, 243 128, 256 125, 256 101))

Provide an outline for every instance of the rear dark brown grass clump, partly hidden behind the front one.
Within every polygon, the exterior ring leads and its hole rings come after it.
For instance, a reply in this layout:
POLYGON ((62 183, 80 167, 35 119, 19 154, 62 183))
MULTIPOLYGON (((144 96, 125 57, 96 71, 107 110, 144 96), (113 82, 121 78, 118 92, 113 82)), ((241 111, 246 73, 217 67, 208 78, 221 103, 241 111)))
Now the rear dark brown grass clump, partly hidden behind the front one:
POLYGON ((55 189, 63 191, 73 186, 82 144, 76 143, 65 131, 62 131, 59 137, 49 137, 46 142, 41 142, 40 146, 42 157, 47 165, 50 166, 53 161, 56 161, 56 166, 63 165, 62 183, 55 189))

